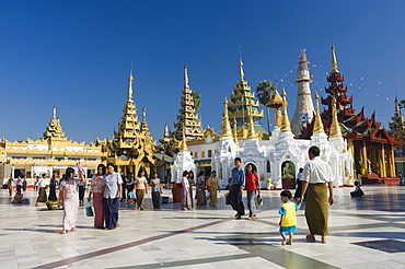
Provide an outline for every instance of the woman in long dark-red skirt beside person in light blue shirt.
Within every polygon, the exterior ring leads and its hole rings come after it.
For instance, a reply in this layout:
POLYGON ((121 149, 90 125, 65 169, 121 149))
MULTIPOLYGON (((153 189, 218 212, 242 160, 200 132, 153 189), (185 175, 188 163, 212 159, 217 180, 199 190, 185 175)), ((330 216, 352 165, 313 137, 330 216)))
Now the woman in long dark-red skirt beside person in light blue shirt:
POLYGON ((103 194, 102 194, 102 183, 103 176, 105 175, 106 169, 104 164, 97 165, 97 173, 93 175, 89 198, 91 200, 93 196, 93 208, 94 208, 94 226, 97 229, 104 227, 104 208, 103 208, 103 194))

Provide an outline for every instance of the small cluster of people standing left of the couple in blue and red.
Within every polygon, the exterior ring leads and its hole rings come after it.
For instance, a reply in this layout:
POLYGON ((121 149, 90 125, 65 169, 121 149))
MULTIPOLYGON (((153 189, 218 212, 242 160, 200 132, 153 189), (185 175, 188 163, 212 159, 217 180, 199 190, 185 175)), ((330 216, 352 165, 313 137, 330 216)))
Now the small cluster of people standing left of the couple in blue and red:
POLYGON ((219 189, 219 182, 217 177, 217 172, 212 171, 211 175, 208 179, 204 177, 204 172, 198 173, 197 182, 194 180, 194 172, 193 171, 184 171, 183 178, 181 182, 182 187, 182 210, 194 210, 194 202, 193 199, 197 200, 197 206, 206 206, 207 204, 207 195, 206 190, 208 190, 208 199, 209 206, 216 207, 217 201, 217 191, 219 189), (193 186, 196 186, 196 196, 193 197, 193 186))

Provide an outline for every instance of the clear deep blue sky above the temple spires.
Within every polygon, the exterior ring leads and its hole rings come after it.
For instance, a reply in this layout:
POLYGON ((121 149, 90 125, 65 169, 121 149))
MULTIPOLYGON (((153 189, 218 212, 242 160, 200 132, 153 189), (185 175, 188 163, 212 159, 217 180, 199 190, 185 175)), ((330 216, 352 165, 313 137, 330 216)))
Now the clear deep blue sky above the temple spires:
POLYGON ((252 90, 288 73, 292 117, 299 50, 306 48, 312 90, 320 91, 332 39, 355 109, 366 106, 368 117, 375 110, 387 128, 395 92, 405 98, 404 11, 405 1, 391 0, 1 1, 0 134, 40 137, 56 105, 70 139, 109 138, 132 62, 134 101, 139 118, 147 107, 155 140, 165 122, 173 130, 185 63, 202 96, 204 127, 218 132, 224 94, 239 79, 240 46, 252 90))

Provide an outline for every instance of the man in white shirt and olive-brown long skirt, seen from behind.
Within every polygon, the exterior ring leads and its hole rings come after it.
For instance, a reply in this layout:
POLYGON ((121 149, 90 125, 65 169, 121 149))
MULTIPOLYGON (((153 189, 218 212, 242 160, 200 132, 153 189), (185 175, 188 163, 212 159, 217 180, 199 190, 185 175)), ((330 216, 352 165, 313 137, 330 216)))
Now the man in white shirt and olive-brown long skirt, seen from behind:
POLYGON ((310 162, 302 172, 302 194, 298 206, 302 204, 308 191, 305 204, 305 219, 310 229, 308 241, 315 241, 315 234, 321 235, 321 242, 326 243, 328 204, 334 203, 333 174, 328 163, 321 160, 320 148, 311 147, 309 150, 310 162), (327 184, 327 187, 326 187, 327 184), (327 189, 329 197, 327 198, 327 189))

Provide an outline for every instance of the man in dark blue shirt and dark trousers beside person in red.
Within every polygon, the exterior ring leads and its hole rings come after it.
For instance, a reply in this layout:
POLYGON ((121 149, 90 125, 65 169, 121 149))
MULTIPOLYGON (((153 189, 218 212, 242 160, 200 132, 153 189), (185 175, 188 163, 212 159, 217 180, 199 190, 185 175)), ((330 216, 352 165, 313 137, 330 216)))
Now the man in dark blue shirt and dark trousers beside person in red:
POLYGON ((232 209, 236 211, 235 219, 240 220, 245 214, 245 207, 243 206, 242 195, 245 187, 245 173, 241 168, 242 160, 235 157, 234 165, 232 168, 232 185, 229 194, 229 201, 232 209))

